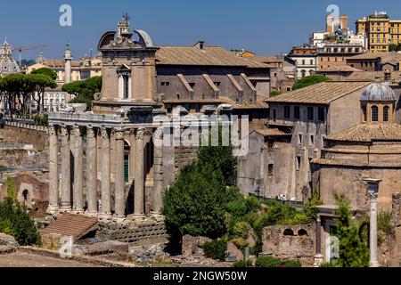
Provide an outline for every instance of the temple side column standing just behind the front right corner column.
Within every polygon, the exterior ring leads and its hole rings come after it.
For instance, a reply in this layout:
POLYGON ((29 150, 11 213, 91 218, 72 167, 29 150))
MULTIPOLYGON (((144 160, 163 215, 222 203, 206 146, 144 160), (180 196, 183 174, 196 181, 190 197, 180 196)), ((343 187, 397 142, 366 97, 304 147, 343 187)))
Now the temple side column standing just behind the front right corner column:
POLYGON ((144 216, 144 153, 143 153, 143 139, 144 128, 136 131, 135 142, 135 202, 134 214, 135 216, 144 216))

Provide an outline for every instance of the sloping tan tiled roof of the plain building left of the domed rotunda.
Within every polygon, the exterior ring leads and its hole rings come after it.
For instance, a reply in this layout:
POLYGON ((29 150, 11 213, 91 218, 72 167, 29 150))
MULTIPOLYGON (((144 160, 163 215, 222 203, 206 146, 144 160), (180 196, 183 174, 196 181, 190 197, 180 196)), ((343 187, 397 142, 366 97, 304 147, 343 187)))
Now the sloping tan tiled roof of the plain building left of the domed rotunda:
POLYGON ((267 102, 330 104, 341 97, 363 89, 369 82, 326 81, 270 98, 267 102))

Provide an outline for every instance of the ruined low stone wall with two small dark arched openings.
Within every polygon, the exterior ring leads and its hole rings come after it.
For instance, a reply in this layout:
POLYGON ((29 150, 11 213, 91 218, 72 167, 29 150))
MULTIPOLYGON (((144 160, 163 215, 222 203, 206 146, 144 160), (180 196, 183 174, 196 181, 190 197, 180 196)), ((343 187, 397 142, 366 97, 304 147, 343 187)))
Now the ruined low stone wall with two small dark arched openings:
POLYGON ((263 252, 282 259, 299 259, 312 266, 315 256, 315 225, 274 225, 263 229, 263 252))

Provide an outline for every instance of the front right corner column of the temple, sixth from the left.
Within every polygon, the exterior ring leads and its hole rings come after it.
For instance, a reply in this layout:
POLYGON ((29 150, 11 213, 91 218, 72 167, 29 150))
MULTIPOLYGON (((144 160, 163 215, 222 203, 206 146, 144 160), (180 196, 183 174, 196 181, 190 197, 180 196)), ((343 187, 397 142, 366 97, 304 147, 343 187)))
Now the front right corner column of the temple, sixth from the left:
POLYGON ((116 139, 116 188, 115 188, 115 214, 117 218, 126 215, 126 190, 124 176, 124 131, 115 131, 116 139))

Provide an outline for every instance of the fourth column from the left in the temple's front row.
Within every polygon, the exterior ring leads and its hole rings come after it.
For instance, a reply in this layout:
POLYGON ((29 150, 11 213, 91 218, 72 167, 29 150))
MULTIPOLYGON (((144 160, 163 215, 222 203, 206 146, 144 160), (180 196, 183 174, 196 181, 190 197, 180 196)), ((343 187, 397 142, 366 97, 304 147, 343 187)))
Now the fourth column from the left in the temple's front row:
POLYGON ((86 199, 87 216, 96 216, 97 207, 97 145, 96 134, 92 126, 86 129, 86 199))

